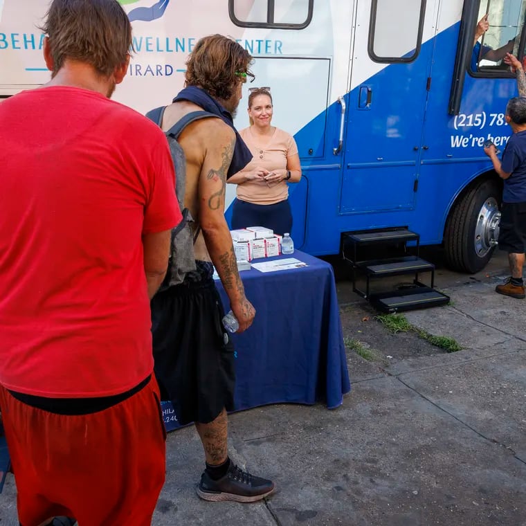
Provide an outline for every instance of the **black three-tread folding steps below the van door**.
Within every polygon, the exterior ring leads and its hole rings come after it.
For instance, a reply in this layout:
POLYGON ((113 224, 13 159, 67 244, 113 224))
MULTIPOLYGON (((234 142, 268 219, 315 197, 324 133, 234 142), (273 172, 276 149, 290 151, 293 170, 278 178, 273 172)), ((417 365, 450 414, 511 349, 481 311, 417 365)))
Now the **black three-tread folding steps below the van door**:
POLYGON ((446 305, 449 297, 437 291, 435 285, 435 265, 419 257, 418 233, 405 227, 385 230, 367 230, 342 234, 342 254, 352 269, 354 292, 366 298, 374 308, 382 312, 408 311, 446 305), (410 246, 408 246, 410 244, 410 246), (366 251, 380 251, 386 257, 376 256, 361 260, 366 251), (412 251, 409 254, 408 251, 412 251), (399 253, 393 257, 393 253, 399 253), (420 275, 430 275, 429 286, 420 281, 420 275), (371 291, 374 280, 396 275, 413 275, 410 284, 399 284, 385 291, 371 291), (365 278, 365 290, 357 281, 365 278))

